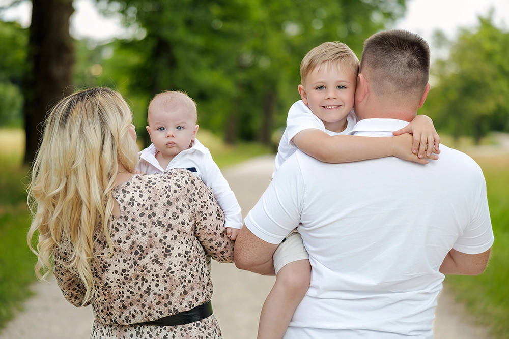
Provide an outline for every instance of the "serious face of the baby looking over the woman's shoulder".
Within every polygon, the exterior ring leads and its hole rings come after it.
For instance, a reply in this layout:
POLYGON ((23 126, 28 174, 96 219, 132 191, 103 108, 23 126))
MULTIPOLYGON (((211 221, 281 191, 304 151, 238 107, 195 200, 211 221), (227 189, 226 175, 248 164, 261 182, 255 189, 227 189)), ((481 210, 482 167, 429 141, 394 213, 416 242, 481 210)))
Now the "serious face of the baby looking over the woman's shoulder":
POLYGON ((169 109, 155 103, 150 107, 148 122, 150 141, 170 160, 191 146, 198 131, 193 115, 184 105, 169 109))

